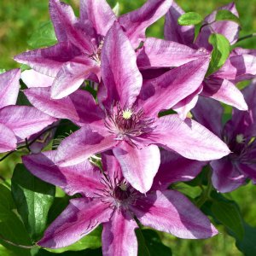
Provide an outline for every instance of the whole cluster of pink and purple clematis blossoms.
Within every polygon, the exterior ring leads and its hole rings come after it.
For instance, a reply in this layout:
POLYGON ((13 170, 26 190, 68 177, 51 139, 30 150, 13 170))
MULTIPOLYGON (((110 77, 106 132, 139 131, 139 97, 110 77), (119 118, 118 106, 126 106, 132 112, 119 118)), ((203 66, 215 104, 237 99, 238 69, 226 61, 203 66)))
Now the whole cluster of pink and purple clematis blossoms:
MULTIPOLYGON (((235 3, 220 9, 238 17, 235 3)), ((234 20, 216 20, 217 12, 195 38, 195 26, 178 24, 184 11, 172 0, 148 0, 119 17, 105 0, 80 0, 79 17, 49 0, 58 42, 15 56, 30 69, 0 74, 0 153, 32 142, 22 157, 26 169, 76 195, 38 246, 67 247, 100 224, 103 255, 136 256, 141 225, 188 239, 218 234, 170 187, 206 165, 219 192, 256 182, 256 50, 234 48, 208 73, 211 34, 233 45, 240 30, 234 20), (147 38, 164 15, 165 39, 147 38), (15 106, 20 79, 32 106, 15 106), (236 87, 250 79, 244 90, 236 87), (225 125, 220 102, 234 107, 225 125), (76 131, 44 151, 63 119, 76 131)))

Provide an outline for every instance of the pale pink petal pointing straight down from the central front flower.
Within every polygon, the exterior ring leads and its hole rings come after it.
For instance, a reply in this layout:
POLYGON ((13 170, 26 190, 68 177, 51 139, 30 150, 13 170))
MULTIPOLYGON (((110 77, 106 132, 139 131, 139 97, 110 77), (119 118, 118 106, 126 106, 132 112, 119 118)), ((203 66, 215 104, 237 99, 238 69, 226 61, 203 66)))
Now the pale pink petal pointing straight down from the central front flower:
POLYGON ((119 143, 113 154, 120 163, 125 179, 131 186, 146 193, 152 186, 154 176, 160 166, 160 150, 151 145, 142 149, 119 143))

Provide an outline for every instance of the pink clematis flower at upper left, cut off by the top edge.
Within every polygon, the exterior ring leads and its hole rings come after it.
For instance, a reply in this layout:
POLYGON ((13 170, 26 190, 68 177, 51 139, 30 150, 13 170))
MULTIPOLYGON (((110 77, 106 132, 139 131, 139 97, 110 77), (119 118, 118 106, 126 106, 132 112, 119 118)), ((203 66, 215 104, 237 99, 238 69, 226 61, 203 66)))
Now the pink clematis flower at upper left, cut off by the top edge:
POLYGON ((26 73, 29 78, 53 77, 51 96, 63 98, 78 90, 84 79, 101 80, 102 45, 115 20, 119 20, 131 44, 137 48, 145 38, 147 27, 165 15, 171 4, 172 0, 148 0, 142 8, 118 19, 105 0, 81 0, 78 19, 66 3, 49 0, 58 43, 17 55, 15 61, 42 73, 26 73))

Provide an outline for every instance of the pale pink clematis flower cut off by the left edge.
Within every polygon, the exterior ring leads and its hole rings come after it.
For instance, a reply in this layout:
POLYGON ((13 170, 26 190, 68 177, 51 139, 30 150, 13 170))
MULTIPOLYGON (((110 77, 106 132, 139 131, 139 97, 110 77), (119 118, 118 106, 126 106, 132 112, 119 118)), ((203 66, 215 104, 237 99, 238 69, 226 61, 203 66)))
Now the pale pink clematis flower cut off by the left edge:
POLYGON ((52 124, 55 118, 26 106, 14 106, 20 89, 20 69, 0 74, 0 153, 52 124))

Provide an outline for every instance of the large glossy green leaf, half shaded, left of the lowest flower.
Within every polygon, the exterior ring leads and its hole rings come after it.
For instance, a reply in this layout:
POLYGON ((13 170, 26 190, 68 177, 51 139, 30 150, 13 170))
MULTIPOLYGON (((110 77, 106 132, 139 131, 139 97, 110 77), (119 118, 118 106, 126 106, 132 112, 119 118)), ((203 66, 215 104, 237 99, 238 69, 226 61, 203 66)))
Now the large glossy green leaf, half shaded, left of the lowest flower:
POLYGON ((55 197, 55 186, 33 176, 18 164, 12 177, 12 195, 26 230, 37 241, 46 228, 49 207, 55 197))

